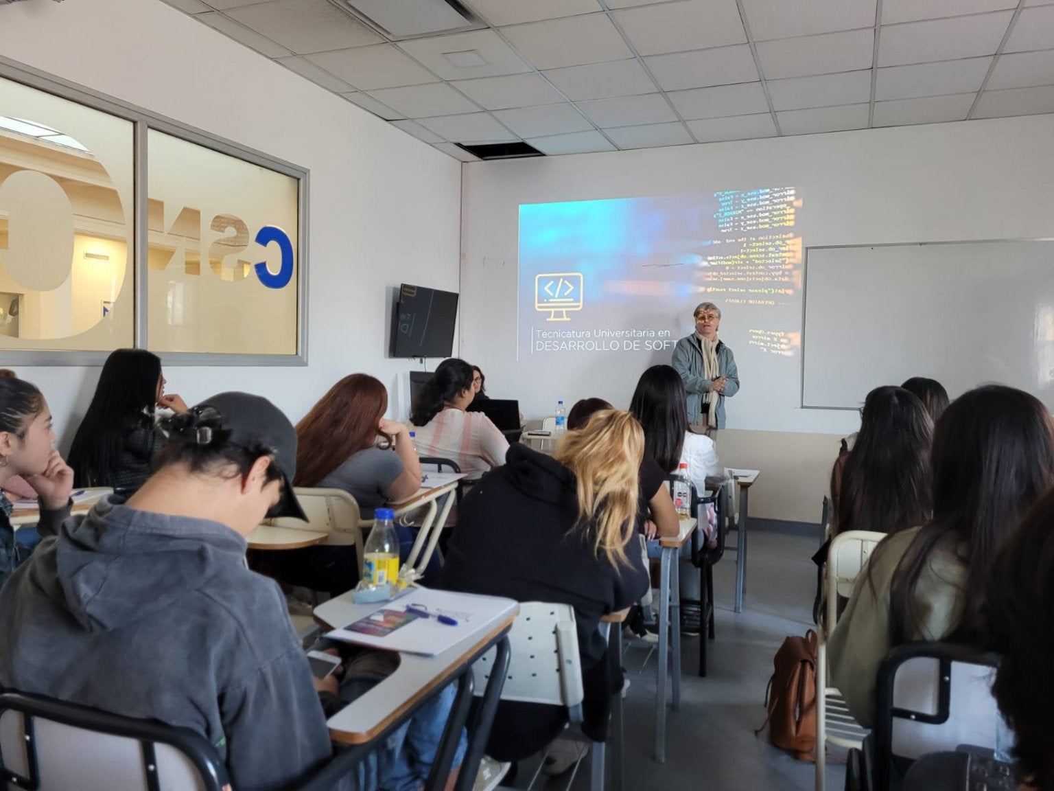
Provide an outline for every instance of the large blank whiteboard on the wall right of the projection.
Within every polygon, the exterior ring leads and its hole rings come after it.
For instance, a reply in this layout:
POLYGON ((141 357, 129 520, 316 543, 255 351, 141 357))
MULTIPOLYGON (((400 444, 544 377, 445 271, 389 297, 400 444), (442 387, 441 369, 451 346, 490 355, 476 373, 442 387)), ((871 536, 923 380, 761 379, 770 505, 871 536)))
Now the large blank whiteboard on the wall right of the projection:
POLYGON ((812 248, 804 314, 803 407, 858 408, 910 377, 1054 407, 1052 240, 812 248))

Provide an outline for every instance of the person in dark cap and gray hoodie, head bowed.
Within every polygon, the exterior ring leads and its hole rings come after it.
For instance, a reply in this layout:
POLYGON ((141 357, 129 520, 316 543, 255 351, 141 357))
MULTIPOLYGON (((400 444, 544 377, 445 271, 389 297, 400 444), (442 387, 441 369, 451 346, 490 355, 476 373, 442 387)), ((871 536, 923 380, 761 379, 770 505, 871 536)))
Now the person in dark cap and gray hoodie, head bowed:
POLYGON ((238 791, 285 788, 331 757, 325 684, 245 555, 265 517, 304 518, 296 432, 242 392, 161 428, 156 474, 63 522, 0 592, 0 687, 190 728, 238 791))

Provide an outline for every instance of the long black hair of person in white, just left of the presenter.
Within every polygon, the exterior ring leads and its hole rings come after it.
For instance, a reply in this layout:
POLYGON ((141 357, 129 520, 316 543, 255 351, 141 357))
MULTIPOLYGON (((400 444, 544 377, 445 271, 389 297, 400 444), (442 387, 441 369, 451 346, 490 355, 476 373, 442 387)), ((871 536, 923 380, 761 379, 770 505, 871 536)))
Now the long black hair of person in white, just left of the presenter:
POLYGON ((644 452, 664 472, 676 471, 688 430, 688 397, 681 374, 671 366, 652 365, 641 374, 629 411, 644 426, 644 452))

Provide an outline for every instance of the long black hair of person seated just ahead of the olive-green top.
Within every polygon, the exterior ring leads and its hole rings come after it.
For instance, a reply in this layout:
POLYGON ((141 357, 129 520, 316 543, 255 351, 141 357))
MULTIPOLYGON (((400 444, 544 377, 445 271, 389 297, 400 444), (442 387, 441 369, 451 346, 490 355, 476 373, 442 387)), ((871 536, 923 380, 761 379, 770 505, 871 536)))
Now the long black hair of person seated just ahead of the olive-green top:
MULTIPOLYGON (((898 533, 930 518, 933 423, 902 387, 876 387, 835 494, 838 532, 898 533)), ((832 482, 834 485, 834 481, 832 482)))

